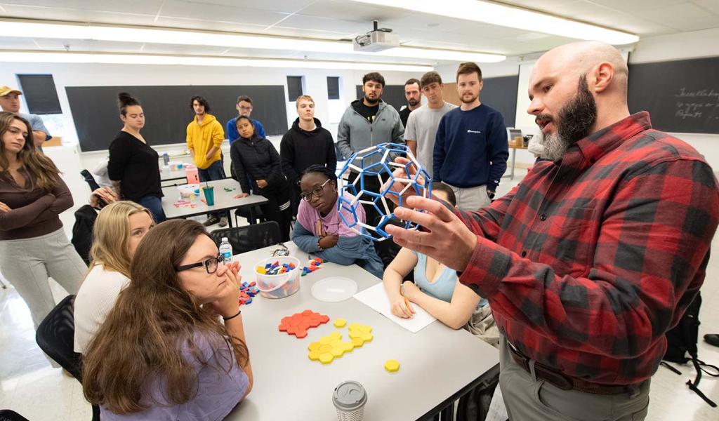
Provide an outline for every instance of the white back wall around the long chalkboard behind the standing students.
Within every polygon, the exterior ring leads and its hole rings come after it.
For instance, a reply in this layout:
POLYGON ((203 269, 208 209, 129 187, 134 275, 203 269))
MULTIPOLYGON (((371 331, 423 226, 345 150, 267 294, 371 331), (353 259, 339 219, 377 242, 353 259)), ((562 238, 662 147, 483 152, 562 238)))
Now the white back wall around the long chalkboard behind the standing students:
MULTIPOLYGON (((362 82, 364 70, 316 70, 316 69, 278 69, 278 68, 229 68, 180 65, 104 65, 104 64, 64 64, 64 63, 3 63, 0 66, 0 85, 18 85, 17 74, 52 74, 55 87, 58 89, 60 106, 63 109, 62 126, 65 146, 47 148, 50 156, 61 170, 63 178, 73 193, 75 205, 86 203, 89 189, 74 168, 93 168, 106 152, 80 152, 77 145, 77 134, 73 124, 72 112, 65 93, 65 86, 102 86, 102 85, 283 85, 285 86, 285 106, 287 107, 288 126, 297 118, 295 103, 290 102, 288 95, 287 76, 304 76, 304 92, 311 95, 316 103, 316 117, 322 125, 336 138, 337 124, 349 102, 356 99, 354 86, 362 82), (327 76, 339 76, 340 99, 327 99, 327 76)), ((408 78, 420 77, 420 74, 408 72, 382 72, 386 83, 402 84, 408 78)), ((131 92, 132 93, 132 92, 131 92)), ((241 95, 238 92, 237 95, 241 95)), ((188 98, 189 99, 189 98, 188 98)), ((211 101, 211 98, 209 98, 211 101)), ((262 101, 262 98, 252 98, 262 101)), ((142 98, 139 98, 142 101, 142 98)), ((26 109, 23 106, 23 110, 26 109)), ((147 124, 152 124, 152 116, 147 116, 147 124)), ((178 121, 186 126, 188 121, 178 121)), ((224 121, 223 121, 224 126, 224 121)), ((114 137, 122 128, 108 127, 107 136, 114 137)), ((52 131, 52 129, 50 128, 52 131)), ((57 135, 57 133, 55 133, 57 135)), ((270 141, 279 150, 281 137, 270 137, 270 141)), ((162 154, 179 154, 183 152, 183 144, 162 146, 160 139, 149 139, 157 152, 162 154), (157 146, 156 146, 157 145, 157 146)), ((229 144, 225 142, 224 153, 229 154, 229 144)), ((229 159, 225 159, 226 172, 229 174, 229 159)), ((70 215, 71 216, 71 215, 70 215)), ((71 224, 70 224, 71 226, 71 224)))

